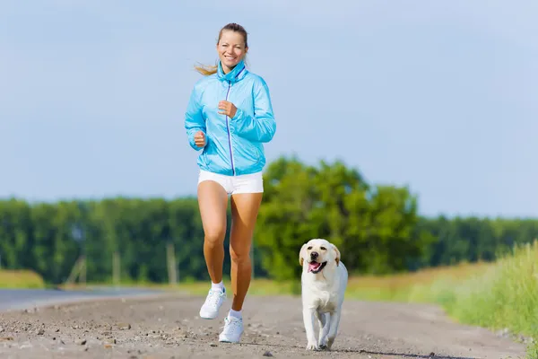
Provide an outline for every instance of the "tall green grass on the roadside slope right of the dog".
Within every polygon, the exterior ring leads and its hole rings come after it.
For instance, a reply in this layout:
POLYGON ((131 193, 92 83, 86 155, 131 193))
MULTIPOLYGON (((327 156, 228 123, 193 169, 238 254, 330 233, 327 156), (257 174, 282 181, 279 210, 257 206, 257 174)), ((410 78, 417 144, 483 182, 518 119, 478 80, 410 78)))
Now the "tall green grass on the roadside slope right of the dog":
POLYGON ((348 293, 363 300, 438 303, 461 323, 530 337, 527 357, 538 358, 538 241, 490 264, 351 278, 348 293))

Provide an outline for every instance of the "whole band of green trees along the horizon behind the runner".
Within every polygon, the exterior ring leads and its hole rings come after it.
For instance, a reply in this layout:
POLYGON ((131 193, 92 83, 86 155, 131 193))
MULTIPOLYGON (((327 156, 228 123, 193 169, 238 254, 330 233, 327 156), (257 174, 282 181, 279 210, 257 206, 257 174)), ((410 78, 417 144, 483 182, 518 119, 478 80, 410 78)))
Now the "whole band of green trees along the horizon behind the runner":
MULTIPOLYGON (((229 233, 230 213, 226 248, 229 233)), ((409 188, 369 184, 343 162, 282 157, 265 170, 255 276, 298 279, 299 249, 310 238, 334 242, 351 273, 381 275, 494 260, 538 238, 538 219, 424 217, 409 188)), ((195 197, 0 200, 0 267, 34 270, 49 284, 65 282, 82 255, 87 280, 108 282, 115 253, 122 281, 167 282, 169 243, 179 280, 208 280, 203 241, 195 197)))

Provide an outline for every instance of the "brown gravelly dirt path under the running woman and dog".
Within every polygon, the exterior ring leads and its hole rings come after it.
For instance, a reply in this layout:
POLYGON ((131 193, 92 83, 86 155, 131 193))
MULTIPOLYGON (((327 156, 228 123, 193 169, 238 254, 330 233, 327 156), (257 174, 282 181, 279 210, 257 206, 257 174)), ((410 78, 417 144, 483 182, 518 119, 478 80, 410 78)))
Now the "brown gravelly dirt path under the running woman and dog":
POLYGON ((298 298, 249 297, 240 345, 218 342, 219 320, 197 317, 203 299, 86 302, 0 313, 0 357, 15 358, 523 358, 525 347, 456 325, 434 306, 344 302, 333 352, 307 352, 298 298))

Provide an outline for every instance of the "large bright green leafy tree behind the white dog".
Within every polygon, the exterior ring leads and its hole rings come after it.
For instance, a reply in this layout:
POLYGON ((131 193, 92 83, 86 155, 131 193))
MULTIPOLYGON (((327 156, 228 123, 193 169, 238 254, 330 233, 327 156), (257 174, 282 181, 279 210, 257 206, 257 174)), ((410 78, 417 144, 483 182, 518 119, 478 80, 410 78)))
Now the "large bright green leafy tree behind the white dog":
POLYGON ((279 280, 299 276, 299 250, 311 238, 338 246, 350 271, 370 273, 404 270, 430 238, 414 235, 416 198, 407 188, 370 188, 343 162, 316 168, 281 158, 268 166, 265 184, 256 241, 279 280))

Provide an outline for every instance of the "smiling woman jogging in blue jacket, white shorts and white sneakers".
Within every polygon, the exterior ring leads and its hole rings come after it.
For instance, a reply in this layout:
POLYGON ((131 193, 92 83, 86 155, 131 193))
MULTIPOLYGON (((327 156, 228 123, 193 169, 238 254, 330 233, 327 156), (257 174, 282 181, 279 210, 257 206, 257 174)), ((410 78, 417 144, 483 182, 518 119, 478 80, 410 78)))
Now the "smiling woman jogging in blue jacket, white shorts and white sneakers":
POLYGON ((233 301, 219 341, 237 343, 243 333, 242 308, 250 285, 250 245, 262 201, 263 143, 276 124, 264 79, 247 71, 247 31, 224 26, 217 41, 218 65, 195 67, 204 78, 195 83, 185 128, 198 156, 198 205, 204 227, 204 258, 212 286, 200 317, 215 319, 226 289, 222 285, 228 195, 231 203, 230 258, 233 301))

